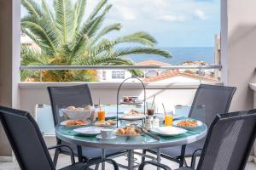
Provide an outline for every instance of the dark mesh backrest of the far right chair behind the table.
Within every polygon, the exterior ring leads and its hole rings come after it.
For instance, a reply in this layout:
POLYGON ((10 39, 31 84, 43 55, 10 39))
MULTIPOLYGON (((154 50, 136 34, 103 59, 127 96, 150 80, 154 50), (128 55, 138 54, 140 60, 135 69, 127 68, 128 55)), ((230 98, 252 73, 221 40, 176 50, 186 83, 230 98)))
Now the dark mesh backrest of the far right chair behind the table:
POLYGON ((189 116, 205 122, 210 127, 217 114, 227 113, 236 91, 234 87, 201 84, 195 93, 189 116), (205 115, 198 106, 203 106, 205 115))

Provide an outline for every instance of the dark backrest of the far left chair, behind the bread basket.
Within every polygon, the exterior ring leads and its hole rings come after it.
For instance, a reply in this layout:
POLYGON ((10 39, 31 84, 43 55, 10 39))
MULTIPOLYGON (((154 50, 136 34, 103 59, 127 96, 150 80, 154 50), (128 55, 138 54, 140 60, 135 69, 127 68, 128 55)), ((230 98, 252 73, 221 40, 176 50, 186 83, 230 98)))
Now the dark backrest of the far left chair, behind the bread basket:
POLYGON ((90 89, 87 84, 67 87, 48 87, 55 126, 64 121, 59 110, 68 106, 92 105, 90 89))

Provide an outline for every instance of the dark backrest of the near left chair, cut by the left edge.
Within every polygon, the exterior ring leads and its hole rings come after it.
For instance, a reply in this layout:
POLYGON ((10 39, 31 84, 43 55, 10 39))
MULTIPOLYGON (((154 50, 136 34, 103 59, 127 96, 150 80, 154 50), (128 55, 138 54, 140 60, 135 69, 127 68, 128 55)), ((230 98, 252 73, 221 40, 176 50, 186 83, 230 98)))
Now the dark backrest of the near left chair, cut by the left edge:
POLYGON ((0 106, 0 119, 22 170, 55 170, 37 123, 26 111, 0 106))

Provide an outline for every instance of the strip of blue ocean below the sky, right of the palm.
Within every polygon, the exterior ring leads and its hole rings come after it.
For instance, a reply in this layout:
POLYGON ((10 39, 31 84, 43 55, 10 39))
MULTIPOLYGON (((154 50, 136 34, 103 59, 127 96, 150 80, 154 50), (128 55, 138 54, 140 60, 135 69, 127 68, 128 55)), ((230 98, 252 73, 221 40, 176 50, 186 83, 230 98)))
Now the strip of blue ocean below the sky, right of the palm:
POLYGON ((135 63, 144 61, 144 60, 158 60, 161 62, 169 63, 171 65, 179 65, 182 64, 184 61, 196 61, 202 60, 205 61, 207 64, 214 64, 214 48, 161 48, 168 51, 172 54, 171 59, 166 59, 165 57, 161 57, 159 55, 132 55, 128 56, 131 60, 135 63))

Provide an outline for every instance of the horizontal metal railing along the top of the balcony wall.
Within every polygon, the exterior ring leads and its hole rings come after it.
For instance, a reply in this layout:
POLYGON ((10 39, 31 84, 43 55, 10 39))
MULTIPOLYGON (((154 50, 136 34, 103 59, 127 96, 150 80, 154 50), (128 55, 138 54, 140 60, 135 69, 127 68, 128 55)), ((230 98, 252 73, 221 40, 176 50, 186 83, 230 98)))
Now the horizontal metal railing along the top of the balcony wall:
POLYGON ((67 70, 198 70, 200 82, 203 70, 221 70, 221 65, 20 65, 20 71, 67 71, 67 70))

